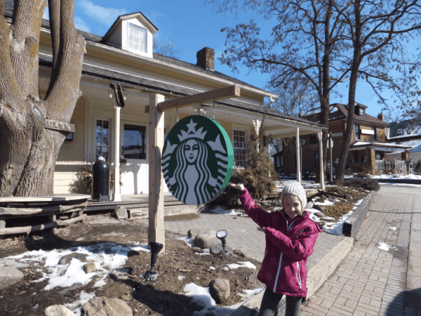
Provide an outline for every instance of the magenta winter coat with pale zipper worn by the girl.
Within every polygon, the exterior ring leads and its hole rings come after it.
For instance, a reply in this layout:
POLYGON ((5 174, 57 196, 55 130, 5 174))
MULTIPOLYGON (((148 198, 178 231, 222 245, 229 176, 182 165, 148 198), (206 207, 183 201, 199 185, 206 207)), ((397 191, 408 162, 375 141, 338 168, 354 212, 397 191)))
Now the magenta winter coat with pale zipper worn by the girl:
POLYGON ((313 253, 320 228, 304 211, 290 220, 280 211, 269 213, 256 206, 243 190, 243 209, 261 228, 267 228, 265 258, 258 280, 278 294, 307 296, 307 258, 313 253))

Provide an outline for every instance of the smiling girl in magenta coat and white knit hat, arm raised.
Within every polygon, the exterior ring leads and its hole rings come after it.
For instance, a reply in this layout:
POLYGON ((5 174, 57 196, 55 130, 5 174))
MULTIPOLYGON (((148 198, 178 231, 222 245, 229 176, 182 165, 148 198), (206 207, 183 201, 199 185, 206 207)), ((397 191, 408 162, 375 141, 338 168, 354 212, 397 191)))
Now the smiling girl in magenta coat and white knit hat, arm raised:
POLYGON ((302 298, 307 296, 307 258, 313 253, 321 232, 304 211, 305 190, 298 182, 283 187, 283 211, 269 213, 256 206, 244 185, 232 185, 242 190, 241 204, 247 215, 265 232, 266 249, 260 282, 266 284, 258 316, 278 315, 279 302, 286 296, 285 316, 298 316, 302 298))

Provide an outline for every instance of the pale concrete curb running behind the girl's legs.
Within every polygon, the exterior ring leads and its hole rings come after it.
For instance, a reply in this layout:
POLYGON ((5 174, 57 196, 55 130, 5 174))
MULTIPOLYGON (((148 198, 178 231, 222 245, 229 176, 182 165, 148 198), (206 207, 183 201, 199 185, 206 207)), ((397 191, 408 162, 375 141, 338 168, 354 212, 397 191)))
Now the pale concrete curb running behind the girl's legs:
MULTIPOLYGON (((307 298, 313 296, 313 294, 321 287, 326 279, 338 268, 341 261, 349 254, 352 246, 354 245, 354 238, 344 237, 339 244, 333 247, 332 250, 323 256, 321 260, 312 266, 307 272, 307 298)), ((229 316, 255 316, 258 315, 260 303, 265 291, 261 291, 259 294, 249 298, 239 308, 234 310, 229 316)), ((282 298, 283 304, 285 300, 282 298)))

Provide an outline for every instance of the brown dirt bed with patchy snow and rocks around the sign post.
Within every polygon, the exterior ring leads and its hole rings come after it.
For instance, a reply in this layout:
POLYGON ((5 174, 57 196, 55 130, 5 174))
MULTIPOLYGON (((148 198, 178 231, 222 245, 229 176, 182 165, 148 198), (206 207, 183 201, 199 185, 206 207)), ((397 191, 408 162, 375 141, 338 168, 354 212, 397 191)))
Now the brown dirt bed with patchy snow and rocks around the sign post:
MULTIPOLYGON (((95 215, 101 217, 100 215, 95 215)), ((103 216, 102 216, 103 217, 103 216)), ((90 216, 91 218, 91 216, 90 216)), ((181 220, 181 217, 166 218, 166 220, 181 220)), ((32 220, 32 225, 36 225, 32 220)), ((187 234, 187 232, 186 232, 187 234)), ((41 316, 50 305, 64 305, 79 300, 82 291, 95 296, 121 298, 133 310, 133 315, 164 315, 191 316, 194 311, 202 308, 192 303, 192 298, 185 296, 183 288, 194 282, 201 287, 208 287, 213 279, 221 277, 229 279, 231 296, 221 305, 232 305, 242 301, 236 294, 243 289, 262 287, 256 280, 260 263, 251 258, 239 255, 199 255, 185 242, 178 240, 182 236, 166 232, 165 253, 160 254, 156 261, 161 276, 156 281, 146 281, 138 276, 149 270, 150 253, 145 251, 130 251, 128 260, 122 267, 127 269, 127 275, 109 275, 107 284, 93 287, 98 280, 94 278, 89 284, 74 284, 71 288, 55 288, 45 291, 46 281, 33 282, 43 276, 45 268, 29 261, 28 268, 19 268, 25 277, 18 284, 0 291, 0 315, 8 316, 41 316), (224 270, 229 263, 250 261, 257 269, 238 268, 224 270), (210 267, 215 270, 210 270, 210 267), (179 279, 182 275, 185 278, 179 279)), ((39 232, 34 235, 13 237, 0 242, 0 258, 21 254, 25 251, 43 249, 69 249, 74 246, 88 246, 102 242, 118 244, 147 244, 147 226, 133 220, 123 220, 116 224, 91 225, 89 222, 76 223, 67 228, 58 229, 55 235, 39 232)))

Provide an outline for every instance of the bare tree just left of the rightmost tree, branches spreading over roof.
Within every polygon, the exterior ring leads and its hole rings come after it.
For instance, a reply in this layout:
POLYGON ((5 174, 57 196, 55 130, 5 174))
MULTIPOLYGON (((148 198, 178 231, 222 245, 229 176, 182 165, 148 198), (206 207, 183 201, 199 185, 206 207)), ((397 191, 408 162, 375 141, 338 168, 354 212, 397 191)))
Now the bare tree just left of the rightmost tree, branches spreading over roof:
MULTIPOLYGON (((345 0, 338 0, 341 4, 345 0)), ((346 73, 337 73, 332 63, 342 54, 345 18, 335 12, 334 0, 208 0, 219 12, 240 8, 258 11, 276 20, 271 38, 262 39, 254 20, 235 28, 222 28, 227 33, 221 62, 238 71, 242 64, 250 70, 270 74, 269 85, 282 86, 293 78, 308 81, 320 103, 320 123, 328 125, 330 93, 344 81, 346 73), (331 75, 333 71, 336 74, 331 75)), ((348 4, 349 6, 350 4, 348 4)), ((344 10, 347 6, 344 6, 344 10)), ((323 131, 323 166, 326 168, 327 130, 323 131)), ((317 174, 320 174, 319 166, 317 174)))

